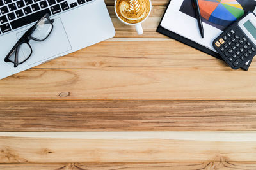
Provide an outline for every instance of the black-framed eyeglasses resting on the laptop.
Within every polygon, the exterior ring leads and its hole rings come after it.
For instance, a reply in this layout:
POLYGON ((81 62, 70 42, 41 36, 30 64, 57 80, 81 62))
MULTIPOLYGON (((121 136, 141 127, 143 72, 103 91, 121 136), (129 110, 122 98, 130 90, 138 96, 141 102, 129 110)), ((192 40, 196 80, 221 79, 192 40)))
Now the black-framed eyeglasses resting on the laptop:
POLYGON ((49 37, 53 29, 54 20, 50 20, 49 14, 45 14, 35 25, 33 25, 19 41, 13 46, 12 50, 4 58, 5 62, 12 62, 14 67, 24 63, 29 59, 33 50, 29 45, 30 40, 44 41, 49 37))

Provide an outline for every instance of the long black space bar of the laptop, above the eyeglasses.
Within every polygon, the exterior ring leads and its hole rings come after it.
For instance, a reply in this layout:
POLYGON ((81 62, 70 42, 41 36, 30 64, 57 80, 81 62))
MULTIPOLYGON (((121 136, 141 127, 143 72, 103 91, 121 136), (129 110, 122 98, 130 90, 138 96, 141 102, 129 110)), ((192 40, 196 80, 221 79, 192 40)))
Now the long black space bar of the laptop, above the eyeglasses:
POLYGON ((17 29, 24 25, 31 24, 32 22, 40 20, 40 18, 42 18, 45 13, 49 13, 49 15, 51 16, 51 11, 49 10, 49 8, 46 8, 45 10, 37 11, 25 17, 19 18, 19 20, 14 20, 11 22, 12 29, 17 29))

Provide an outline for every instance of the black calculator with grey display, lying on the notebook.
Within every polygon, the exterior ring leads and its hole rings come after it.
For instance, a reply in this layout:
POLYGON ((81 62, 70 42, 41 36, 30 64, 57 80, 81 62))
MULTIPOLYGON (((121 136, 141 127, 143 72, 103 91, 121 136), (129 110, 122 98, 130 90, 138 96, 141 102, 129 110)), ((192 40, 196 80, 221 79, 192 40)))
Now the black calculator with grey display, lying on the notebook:
POLYGON ((249 12, 230 25, 213 46, 232 69, 239 69, 256 55, 256 15, 249 12))

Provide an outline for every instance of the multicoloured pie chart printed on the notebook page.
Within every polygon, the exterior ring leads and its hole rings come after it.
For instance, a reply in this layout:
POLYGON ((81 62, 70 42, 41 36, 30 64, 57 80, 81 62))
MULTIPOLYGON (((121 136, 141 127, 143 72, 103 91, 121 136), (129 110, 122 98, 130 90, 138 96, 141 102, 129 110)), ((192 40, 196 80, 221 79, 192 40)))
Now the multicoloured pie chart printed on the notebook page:
POLYGON ((200 12, 205 20, 227 27, 244 15, 236 0, 198 0, 200 12))

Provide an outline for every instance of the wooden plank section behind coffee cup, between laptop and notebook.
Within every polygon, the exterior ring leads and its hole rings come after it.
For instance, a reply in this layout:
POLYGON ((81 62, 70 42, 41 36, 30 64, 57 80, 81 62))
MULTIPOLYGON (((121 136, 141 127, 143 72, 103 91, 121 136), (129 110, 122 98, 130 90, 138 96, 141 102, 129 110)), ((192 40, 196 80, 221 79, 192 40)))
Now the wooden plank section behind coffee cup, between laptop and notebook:
POLYGON ((165 10, 165 6, 153 6, 150 16, 143 22, 143 35, 138 35, 134 26, 125 25, 116 17, 113 6, 108 6, 109 15, 116 29, 115 38, 167 38, 156 32, 165 10))

